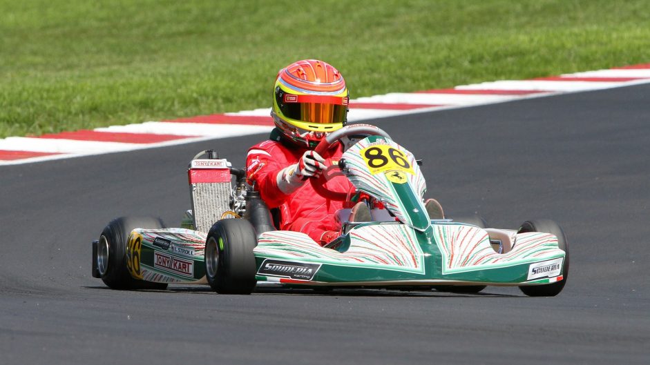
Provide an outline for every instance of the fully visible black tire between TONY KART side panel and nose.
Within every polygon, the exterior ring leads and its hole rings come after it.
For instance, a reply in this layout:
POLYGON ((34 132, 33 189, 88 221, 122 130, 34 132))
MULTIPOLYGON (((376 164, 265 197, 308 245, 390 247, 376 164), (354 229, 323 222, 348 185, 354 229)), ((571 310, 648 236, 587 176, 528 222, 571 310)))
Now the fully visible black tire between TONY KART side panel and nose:
POLYGON ((257 284, 255 246, 257 235, 246 219, 215 223, 205 241, 205 276, 210 287, 220 294, 253 293, 257 284))

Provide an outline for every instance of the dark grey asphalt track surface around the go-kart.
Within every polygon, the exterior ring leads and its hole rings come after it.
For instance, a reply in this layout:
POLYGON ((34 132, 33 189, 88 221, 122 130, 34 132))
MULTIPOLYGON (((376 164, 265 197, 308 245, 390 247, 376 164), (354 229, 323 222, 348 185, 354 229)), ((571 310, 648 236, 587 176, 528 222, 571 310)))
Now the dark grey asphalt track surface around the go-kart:
POLYGON ((187 163, 262 136, 0 167, 0 364, 648 364, 650 85, 381 119, 425 160, 448 215, 564 226, 557 297, 204 287, 128 292, 90 277, 120 215, 178 225, 187 163))

